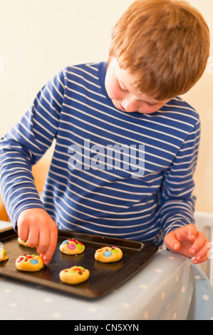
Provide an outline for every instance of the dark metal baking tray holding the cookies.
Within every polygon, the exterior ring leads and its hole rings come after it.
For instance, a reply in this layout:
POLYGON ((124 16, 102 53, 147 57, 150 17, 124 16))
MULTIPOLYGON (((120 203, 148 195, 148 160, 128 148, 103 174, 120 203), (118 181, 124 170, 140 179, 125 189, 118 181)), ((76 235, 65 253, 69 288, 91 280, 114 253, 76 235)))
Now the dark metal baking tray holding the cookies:
POLYGON ((88 299, 100 298, 112 292, 140 271, 158 249, 157 245, 147 242, 58 230, 58 244, 51 262, 38 272, 20 272, 15 266, 16 258, 21 254, 38 254, 36 248, 19 244, 13 228, 0 231, 0 242, 9 256, 8 260, 0 262, 1 275, 88 299), (85 245, 85 251, 82 254, 67 255, 60 252, 61 242, 71 237, 85 245), (106 246, 120 247, 123 251, 123 259, 114 263, 96 261, 95 250, 106 246), (89 269, 89 279, 77 285, 61 282, 59 272, 74 265, 89 269))

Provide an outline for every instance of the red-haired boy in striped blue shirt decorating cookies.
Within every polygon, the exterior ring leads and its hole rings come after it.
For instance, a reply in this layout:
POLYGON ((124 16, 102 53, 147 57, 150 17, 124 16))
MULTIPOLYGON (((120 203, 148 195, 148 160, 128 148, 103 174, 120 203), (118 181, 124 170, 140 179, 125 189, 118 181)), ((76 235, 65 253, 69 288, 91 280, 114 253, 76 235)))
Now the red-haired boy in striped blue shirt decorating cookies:
POLYGON ((178 95, 202 76, 209 30, 183 1, 135 1, 108 64, 65 68, 1 140, 1 192, 21 239, 50 262, 58 227, 207 259, 193 219, 199 115, 178 95), (31 165, 56 146, 41 202, 31 165))

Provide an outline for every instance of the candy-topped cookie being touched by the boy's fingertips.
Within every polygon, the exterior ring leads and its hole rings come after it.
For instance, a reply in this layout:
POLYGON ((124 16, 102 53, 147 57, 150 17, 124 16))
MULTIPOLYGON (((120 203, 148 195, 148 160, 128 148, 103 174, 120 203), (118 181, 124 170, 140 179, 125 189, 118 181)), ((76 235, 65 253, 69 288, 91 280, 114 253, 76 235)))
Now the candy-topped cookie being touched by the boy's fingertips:
POLYGON ((43 259, 38 254, 23 254, 16 259, 16 268, 20 271, 36 272, 43 267, 43 259))

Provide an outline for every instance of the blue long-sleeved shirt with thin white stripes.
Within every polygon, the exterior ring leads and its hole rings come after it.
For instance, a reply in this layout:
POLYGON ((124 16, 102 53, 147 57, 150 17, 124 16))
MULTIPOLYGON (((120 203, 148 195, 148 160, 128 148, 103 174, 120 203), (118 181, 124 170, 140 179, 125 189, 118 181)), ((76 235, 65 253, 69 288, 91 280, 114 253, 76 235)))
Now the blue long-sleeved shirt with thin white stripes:
POLYGON ((126 113, 105 91, 106 62, 64 68, 1 139, 1 194, 11 222, 45 208, 63 230, 162 244, 194 223, 199 115, 182 98, 126 113), (55 140, 41 200, 31 165, 55 140))

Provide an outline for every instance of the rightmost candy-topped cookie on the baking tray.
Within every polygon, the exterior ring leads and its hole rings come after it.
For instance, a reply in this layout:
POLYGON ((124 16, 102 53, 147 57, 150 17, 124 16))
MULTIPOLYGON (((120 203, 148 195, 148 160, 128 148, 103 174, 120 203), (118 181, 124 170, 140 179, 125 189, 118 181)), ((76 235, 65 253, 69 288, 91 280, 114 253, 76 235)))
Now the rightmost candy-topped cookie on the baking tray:
POLYGON ((96 261, 103 263, 117 262, 123 257, 123 252, 118 247, 102 247, 96 250, 96 261))

